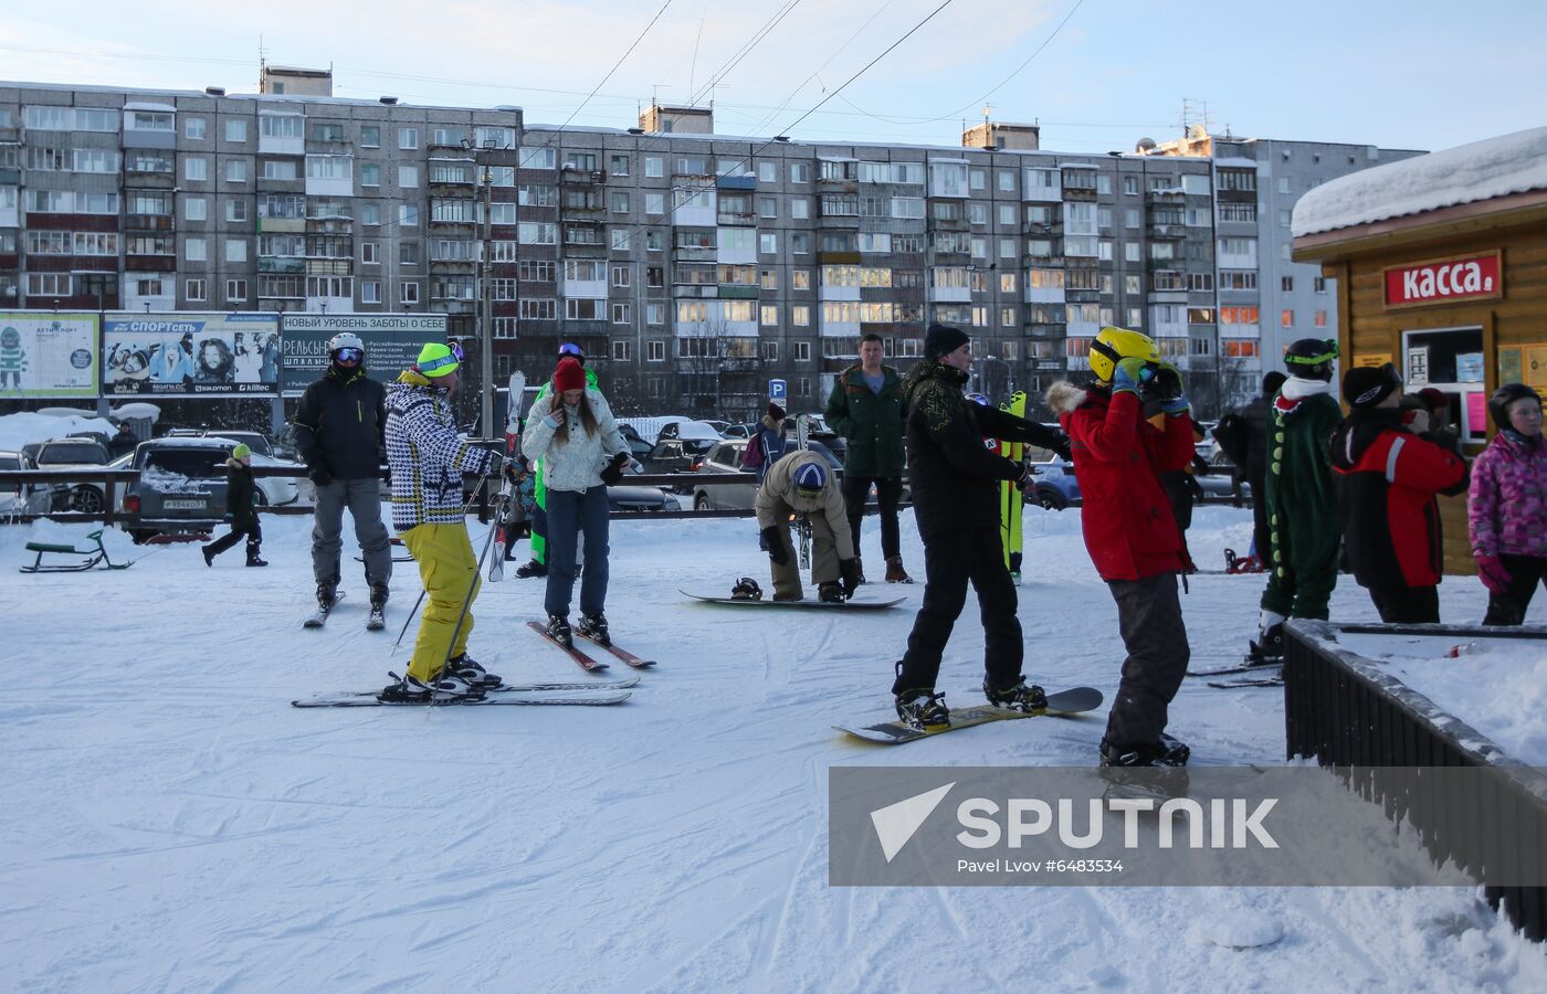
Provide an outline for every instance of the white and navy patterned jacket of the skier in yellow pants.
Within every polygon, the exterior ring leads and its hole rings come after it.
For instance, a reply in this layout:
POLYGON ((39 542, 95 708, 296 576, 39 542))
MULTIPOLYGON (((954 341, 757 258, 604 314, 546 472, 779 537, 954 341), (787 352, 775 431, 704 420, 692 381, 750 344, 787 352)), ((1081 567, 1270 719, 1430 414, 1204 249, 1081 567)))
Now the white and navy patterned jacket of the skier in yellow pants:
POLYGON ((463 473, 490 473, 495 453, 456 434, 446 394, 413 369, 387 386, 387 465, 391 467, 391 524, 463 521, 463 473))

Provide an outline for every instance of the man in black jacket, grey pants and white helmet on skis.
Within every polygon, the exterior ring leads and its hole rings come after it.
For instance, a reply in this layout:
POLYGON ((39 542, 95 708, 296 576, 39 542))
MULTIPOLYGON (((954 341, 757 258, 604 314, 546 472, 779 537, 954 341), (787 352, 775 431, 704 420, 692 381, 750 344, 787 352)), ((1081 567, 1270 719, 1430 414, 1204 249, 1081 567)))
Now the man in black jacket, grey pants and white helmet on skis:
POLYGON ((333 608, 343 549, 343 509, 354 518, 354 538, 365 555, 371 608, 387 604, 391 543, 382 524, 382 433, 387 388, 365 376, 365 343, 348 331, 328 342, 328 371, 306 388, 295 411, 295 448, 317 487, 311 529, 311 570, 317 606, 333 608))

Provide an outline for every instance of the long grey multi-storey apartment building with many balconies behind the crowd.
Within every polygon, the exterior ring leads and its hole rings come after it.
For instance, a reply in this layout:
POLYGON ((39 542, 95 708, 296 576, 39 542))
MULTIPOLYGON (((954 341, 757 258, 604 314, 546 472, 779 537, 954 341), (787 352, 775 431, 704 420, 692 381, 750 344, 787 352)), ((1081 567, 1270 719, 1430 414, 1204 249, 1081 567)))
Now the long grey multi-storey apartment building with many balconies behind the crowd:
POLYGON ((311 71, 263 88, 0 83, 0 309, 430 311, 476 339, 487 252, 495 376, 575 342, 620 410, 750 414, 775 377, 818 410, 862 334, 907 365, 937 320, 973 334, 978 390, 1033 405, 1103 325, 1142 328, 1214 414, 1255 391, 1241 318, 1293 267, 1278 203, 1236 206, 1242 176, 1284 176, 1278 144, 1066 155, 993 122, 811 144, 696 108, 558 130, 334 99, 311 71))

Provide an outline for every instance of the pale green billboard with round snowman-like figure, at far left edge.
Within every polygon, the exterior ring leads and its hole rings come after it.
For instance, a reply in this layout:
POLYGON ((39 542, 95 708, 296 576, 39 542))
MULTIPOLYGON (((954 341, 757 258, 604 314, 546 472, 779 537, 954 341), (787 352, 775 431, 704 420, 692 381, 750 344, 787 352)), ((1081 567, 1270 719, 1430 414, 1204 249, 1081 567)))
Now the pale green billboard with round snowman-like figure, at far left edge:
POLYGON ((0 311, 0 399, 96 397, 97 315, 0 311))

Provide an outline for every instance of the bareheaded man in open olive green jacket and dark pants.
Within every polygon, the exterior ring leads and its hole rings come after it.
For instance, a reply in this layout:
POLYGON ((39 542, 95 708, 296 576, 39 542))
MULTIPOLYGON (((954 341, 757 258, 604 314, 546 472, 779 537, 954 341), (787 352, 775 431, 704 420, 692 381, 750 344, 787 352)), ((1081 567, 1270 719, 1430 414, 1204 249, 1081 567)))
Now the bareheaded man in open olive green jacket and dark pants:
MULTIPOLYGON (((860 339, 860 363, 845 369, 832 383, 828 425, 849 444, 843 454, 843 504, 848 509, 849 533, 854 536, 854 553, 859 555, 860 521, 874 485, 876 502, 880 506, 880 552, 886 558, 886 583, 913 583, 902 567, 897 543, 908 405, 902 399, 902 377, 891 366, 880 365, 880 335, 871 332, 860 339)), ((860 578, 863 580, 863 567, 860 578)))

